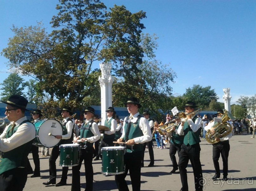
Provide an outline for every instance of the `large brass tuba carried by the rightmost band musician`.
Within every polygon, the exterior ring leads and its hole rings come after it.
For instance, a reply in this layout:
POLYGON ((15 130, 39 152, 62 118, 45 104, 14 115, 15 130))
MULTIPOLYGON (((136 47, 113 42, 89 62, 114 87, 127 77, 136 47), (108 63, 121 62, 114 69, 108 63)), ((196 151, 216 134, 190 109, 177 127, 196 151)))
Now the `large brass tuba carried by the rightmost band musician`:
POLYGON ((221 122, 217 122, 213 125, 214 133, 212 134, 210 129, 205 134, 206 140, 211 143, 218 143, 217 138, 225 137, 232 131, 232 126, 227 122, 229 119, 235 120, 235 118, 227 110, 224 110, 224 114, 221 117, 221 122))

